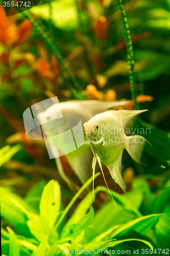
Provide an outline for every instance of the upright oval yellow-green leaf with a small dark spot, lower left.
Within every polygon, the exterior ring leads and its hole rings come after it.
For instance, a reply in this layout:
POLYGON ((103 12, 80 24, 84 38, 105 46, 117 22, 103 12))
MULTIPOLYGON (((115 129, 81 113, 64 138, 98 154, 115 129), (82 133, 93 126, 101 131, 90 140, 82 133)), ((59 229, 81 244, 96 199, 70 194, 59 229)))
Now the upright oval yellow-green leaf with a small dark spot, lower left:
POLYGON ((50 229, 54 226, 59 215, 61 190, 58 181, 51 180, 44 187, 40 201, 40 216, 43 216, 50 229))

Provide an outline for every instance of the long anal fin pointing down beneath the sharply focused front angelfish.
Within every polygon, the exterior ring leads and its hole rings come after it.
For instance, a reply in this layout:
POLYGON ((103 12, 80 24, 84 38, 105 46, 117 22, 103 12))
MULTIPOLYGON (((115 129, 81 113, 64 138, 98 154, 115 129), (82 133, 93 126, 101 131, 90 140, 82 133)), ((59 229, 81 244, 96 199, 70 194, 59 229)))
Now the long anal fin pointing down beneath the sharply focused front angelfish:
MULTIPOLYGON (((123 153, 123 151, 122 151, 123 153)), ((110 174, 114 181, 122 188, 126 193, 126 185, 122 178, 122 153, 117 157, 117 159, 110 165, 107 165, 110 174)))

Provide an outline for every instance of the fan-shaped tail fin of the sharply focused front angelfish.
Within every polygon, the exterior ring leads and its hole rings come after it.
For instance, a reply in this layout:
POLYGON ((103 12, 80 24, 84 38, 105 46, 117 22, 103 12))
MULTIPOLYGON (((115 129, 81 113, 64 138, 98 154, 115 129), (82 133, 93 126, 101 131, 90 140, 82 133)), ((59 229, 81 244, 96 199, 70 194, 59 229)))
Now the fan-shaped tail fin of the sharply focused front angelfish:
POLYGON ((137 162, 141 163, 141 154, 143 151, 143 147, 145 141, 147 141, 144 137, 140 135, 129 136, 126 150, 128 151, 129 155, 137 162))

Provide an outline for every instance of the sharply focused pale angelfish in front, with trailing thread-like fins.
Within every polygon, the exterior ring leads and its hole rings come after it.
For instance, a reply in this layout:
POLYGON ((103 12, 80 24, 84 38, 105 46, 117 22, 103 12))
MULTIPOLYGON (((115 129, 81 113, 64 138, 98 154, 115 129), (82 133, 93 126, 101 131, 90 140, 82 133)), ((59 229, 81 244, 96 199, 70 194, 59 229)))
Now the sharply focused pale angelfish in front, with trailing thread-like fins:
POLYGON ((86 143, 90 144, 93 152, 93 191, 95 165, 96 161, 98 161, 102 174, 103 169, 101 162, 108 167, 114 181, 126 192, 126 185, 122 178, 123 150, 126 148, 130 156, 136 162, 140 163, 143 146, 146 141, 144 137, 140 135, 127 136, 126 133, 133 124, 133 118, 145 111, 147 110, 111 110, 98 114, 84 123, 88 139, 86 143))

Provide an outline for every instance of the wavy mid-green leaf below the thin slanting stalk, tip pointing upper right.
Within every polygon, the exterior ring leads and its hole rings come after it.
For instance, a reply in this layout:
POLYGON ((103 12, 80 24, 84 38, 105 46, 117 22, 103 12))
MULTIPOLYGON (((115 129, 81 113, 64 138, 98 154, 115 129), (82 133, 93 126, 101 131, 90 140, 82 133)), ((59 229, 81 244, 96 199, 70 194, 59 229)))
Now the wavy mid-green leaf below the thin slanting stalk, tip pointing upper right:
POLYGON ((71 224, 69 228, 67 227, 67 230, 61 233, 61 237, 68 238, 68 240, 75 239, 91 224, 93 218, 94 210, 91 206, 88 214, 83 216, 77 223, 71 224))

